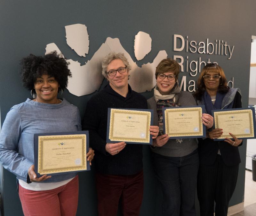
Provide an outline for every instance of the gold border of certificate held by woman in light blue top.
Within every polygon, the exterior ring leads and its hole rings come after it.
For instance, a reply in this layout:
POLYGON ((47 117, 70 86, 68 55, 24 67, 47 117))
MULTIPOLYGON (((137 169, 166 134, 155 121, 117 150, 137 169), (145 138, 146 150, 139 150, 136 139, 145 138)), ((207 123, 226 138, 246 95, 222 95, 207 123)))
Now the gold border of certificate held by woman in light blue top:
POLYGON ((49 173, 61 173, 68 171, 77 171, 77 170, 86 170, 87 168, 87 160, 86 160, 86 135, 70 135, 65 137, 52 136, 47 138, 42 138, 43 136, 38 137, 38 173, 39 174, 49 174, 49 173), (52 168, 52 169, 43 169, 43 159, 44 159, 44 151, 43 145, 46 140, 68 140, 68 139, 82 139, 82 165, 81 166, 70 166, 65 168, 52 168))

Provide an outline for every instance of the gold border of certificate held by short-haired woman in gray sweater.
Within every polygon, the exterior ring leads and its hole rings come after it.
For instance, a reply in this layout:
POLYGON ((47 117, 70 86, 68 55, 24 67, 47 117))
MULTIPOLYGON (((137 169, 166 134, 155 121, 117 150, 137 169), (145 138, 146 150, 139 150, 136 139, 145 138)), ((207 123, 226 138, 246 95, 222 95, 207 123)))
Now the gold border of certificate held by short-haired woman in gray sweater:
POLYGON ((184 111, 198 111, 198 119, 201 119, 202 116, 202 108, 201 107, 191 107, 191 108, 170 108, 170 109, 165 109, 164 110, 164 115, 165 115, 165 133, 167 133, 169 136, 172 137, 188 137, 188 136, 203 136, 203 124, 200 124, 199 121, 199 130, 197 132, 191 132, 191 133, 171 133, 169 131, 169 119, 168 119, 168 113, 169 112, 180 112, 180 110, 184 111))

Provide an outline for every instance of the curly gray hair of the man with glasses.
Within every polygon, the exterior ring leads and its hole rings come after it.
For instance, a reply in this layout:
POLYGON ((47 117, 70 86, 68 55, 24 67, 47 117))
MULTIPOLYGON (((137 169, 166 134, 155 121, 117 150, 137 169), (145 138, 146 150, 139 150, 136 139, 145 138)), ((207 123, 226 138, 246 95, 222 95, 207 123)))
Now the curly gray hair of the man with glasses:
MULTIPOLYGON (((102 60, 102 75, 107 78, 107 67, 115 59, 121 59, 127 69, 127 72, 131 70, 131 67, 129 65, 129 62, 127 58, 124 56, 124 53, 116 53, 116 52, 110 52, 107 56, 105 56, 102 60)), ((130 75, 129 75, 130 77, 130 75)))

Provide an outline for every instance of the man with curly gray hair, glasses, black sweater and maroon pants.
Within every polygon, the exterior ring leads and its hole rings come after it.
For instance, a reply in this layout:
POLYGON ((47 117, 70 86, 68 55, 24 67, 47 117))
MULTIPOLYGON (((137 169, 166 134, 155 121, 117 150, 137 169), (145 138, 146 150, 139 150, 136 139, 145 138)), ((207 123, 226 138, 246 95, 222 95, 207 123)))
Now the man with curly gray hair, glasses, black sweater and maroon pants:
MULTIPOLYGON (((142 145, 106 143, 108 108, 147 109, 146 99, 128 84, 130 65, 123 53, 111 52, 102 61, 102 74, 109 84, 87 103, 83 130, 89 130, 95 150, 99 215, 114 216, 119 199, 123 215, 139 215, 143 197, 142 145)), ((138 84, 139 85, 139 84, 138 84)), ((150 126, 153 138, 158 126, 150 126)))

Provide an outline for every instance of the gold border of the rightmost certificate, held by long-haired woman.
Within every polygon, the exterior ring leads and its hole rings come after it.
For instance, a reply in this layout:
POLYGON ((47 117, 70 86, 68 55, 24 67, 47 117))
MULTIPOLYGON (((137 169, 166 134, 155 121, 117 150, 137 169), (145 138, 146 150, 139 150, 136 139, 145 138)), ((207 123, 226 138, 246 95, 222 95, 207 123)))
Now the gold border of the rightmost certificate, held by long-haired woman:
MULTIPOLYGON (((254 137, 254 127, 253 127, 253 117, 252 117, 252 110, 251 109, 243 109, 243 110, 229 110, 229 111, 220 111, 220 112, 214 112, 214 121, 215 121, 215 128, 219 128, 219 120, 218 117, 220 115, 232 115, 236 113, 242 113, 242 114, 249 114, 249 121, 250 121, 250 131, 251 133, 241 133, 241 134, 234 134, 236 138, 246 138, 246 137, 254 137)), ((232 138, 230 135, 228 136, 221 136, 217 139, 223 139, 223 137, 229 137, 232 138)))

